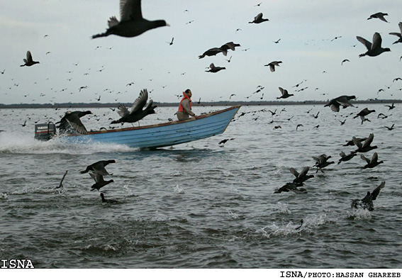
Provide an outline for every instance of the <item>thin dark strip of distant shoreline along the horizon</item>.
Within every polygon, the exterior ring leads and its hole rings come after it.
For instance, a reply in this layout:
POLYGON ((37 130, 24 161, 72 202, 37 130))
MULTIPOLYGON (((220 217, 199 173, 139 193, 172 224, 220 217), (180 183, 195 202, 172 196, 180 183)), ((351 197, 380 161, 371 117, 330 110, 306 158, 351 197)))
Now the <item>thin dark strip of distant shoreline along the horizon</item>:
MULTIPOLYGON (((217 102, 196 102, 193 106, 283 106, 283 105, 317 105, 325 104, 328 101, 217 101, 217 102)), ((353 101, 354 104, 377 104, 377 103, 402 103, 401 99, 370 99, 353 101)), ((122 103, 21 103, 21 104, 0 104, 0 108, 116 108, 122 103)), ((125 106, 132 106, 132 103, 123 103, 125 106)), ((160 107, 176 107, 179 101, 174 103, 154 102, 160 107)))

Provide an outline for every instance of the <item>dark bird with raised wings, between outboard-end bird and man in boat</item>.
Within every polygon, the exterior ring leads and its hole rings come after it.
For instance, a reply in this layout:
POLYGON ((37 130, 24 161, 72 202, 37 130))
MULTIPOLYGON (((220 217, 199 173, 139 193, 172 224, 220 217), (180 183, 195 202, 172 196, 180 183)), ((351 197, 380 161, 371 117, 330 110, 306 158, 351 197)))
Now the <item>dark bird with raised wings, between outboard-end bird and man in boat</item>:
POLYGON ((111 123, 135 123, 136 121, 140 121, 141 119, 145 118, 145 116, 155 113, 154 109, 157 106, 156 105, 152 106, 152 100, 150 100, 150 102, 147 103, 147 99, 148 99, 148 91, 147 89, 143 89, 140 92, 140 96, 138 96, 138 98, 135 99, 131 111, 128 111, 128 109, 125 108, 123 104, 117 107, 118 114, 121 116, 121 118, 118 119, 117 121, 112 121, 111 123), (147 103, 147 106, 143 110, 145 103, 147 103))

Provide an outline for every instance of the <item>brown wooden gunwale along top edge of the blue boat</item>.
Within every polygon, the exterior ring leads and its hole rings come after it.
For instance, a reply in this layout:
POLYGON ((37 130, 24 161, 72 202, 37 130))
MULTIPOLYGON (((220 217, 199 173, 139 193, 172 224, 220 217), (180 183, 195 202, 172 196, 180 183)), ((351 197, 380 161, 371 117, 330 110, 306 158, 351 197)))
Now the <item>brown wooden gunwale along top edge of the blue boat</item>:
MULTIPOLYGON (((163 127, 163 126, 167 126, 167 125, 176 125, 176 124, 179 124, 179 123, 189 123, 191 121, 197 121, 197 120, 200 120, 200 119, 203 119, 203 118, 208 118, 210 116, 215 116, 215 115, 217 115, 219 113, 224 113, 224 112, 233 110, 235 108, 240 108, 240 107, 241 107, 241 105, 235 105, 235 106, 231 106, 229 108, 225 108, 225 109, 220 110, 220 111, 215 111, 215 112, 206 113, 206 114, 203 114, 203 115, 200 115, 200 116, 196 116, 196 118, 189 118, 189 119, 184 120, 184 121, 169 121, 167 123, 157 123, 157 124, 153 124, 153 125, 143 125, 143 126, 137 126, 137 127, 133 127, 133 128, 117 128, 117 129, 111 129, 111 130, 94 130, 94 131, 89 131, 87 134, 68 134, 68 135, 65 135, 65 136, 70 137, 70 136, 95 135, 95 134, 101 134, 101 133, 116 133, 116 132, 121 132, 121 131, 140 130, 140 129, 147 129, 147 128, 159 128, 159 127, 163 127)), ((226 128, 227 128, 227 126, 226 126, 226 128)), ((225 131, 226 128, 223 131, 225 131)))

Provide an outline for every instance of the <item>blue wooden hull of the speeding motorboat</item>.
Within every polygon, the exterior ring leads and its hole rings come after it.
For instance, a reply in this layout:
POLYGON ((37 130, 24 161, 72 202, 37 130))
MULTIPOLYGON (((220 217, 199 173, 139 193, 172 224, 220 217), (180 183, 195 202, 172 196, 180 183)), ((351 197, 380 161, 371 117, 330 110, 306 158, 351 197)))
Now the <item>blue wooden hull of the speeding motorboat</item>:
MULTIPOLYGON (((232 106, 185 121, 170 121, 133 128, 95 130, 89 131, 85 135, 63 135, 57 136, 57 138, 67 143, 102 142, 150 149, 167 147, 224 133, 239 108, 240 105, 232 106)), ((44 128, 43 125, 42 127, 44 128)), ((35 133, 37 133, 36 130, 35 133)))

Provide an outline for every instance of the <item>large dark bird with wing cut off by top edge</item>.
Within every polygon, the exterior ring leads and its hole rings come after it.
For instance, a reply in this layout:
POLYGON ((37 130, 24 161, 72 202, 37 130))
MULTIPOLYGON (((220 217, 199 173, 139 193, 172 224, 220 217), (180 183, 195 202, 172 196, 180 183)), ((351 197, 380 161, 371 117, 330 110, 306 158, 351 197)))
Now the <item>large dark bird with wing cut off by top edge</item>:
POLYGON ((115 16, 108 20, 108 29, 105 33, 96 34, 92 39, 118 35, 122 37, 135 37, 147 30, 169 26, 166 21, 148 21, 143 18, 141 0, 120 0, 120 21, 115 16))

